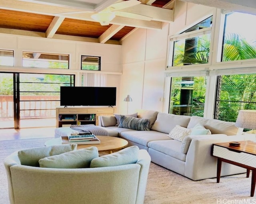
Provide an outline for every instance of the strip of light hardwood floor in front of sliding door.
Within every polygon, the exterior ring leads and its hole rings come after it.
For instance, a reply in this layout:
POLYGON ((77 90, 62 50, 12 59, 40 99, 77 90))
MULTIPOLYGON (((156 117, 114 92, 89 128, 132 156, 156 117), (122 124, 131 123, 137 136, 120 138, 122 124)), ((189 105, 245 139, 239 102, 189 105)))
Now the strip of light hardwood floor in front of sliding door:
POLYGON ((1 140, 31 139, 42 137, 54 137, 55 127, 50 128, 22 128, 22 129, 0 129, 1 140))

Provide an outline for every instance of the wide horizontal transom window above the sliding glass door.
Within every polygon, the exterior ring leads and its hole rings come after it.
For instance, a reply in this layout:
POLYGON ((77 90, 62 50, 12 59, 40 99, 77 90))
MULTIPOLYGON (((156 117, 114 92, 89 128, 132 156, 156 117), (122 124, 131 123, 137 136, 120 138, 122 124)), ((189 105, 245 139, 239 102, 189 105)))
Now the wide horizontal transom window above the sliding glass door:
POLYGON ((69 69, 69 55, 23 52, 23 67, 69 69))

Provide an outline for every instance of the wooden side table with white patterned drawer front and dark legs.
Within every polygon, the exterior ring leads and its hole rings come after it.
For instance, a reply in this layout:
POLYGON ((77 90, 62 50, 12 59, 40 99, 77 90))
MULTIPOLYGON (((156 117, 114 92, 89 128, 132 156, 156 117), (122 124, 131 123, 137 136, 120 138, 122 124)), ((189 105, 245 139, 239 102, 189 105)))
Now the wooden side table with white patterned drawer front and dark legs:
POLYGON ((256 143, 239 141, 240 146, 230 146, 229 142, 212 144, 212 156, 217 157, 217 183, 220 182, 222 161, 247 169, 246 177, 252 170, 251 196, 254 196, 256 183, 256 143))

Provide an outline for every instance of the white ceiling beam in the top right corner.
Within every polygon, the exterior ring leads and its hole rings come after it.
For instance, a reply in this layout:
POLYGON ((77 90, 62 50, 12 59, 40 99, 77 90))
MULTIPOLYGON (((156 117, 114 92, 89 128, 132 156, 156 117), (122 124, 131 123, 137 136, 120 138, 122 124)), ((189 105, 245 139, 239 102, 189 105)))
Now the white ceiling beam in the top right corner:
POLYGON ((182 0, 214 8, 256 15, 255 0, 182 0))

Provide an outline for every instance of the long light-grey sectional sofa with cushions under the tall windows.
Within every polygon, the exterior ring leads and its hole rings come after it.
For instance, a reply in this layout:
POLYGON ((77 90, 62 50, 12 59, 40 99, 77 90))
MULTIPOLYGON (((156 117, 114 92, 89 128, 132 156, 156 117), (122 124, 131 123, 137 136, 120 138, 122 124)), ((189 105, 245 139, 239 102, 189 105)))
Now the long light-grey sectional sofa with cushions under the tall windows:
MULTIPOLYGON (((121 120, 120 115, 100 116, 99 126, 118 132, 129 145, 146 149, 153 163, 192 180, 216 177, 217 159, 211 156, 213 143, 244 140, 242 129, 234 123, 198 116, 140 110, 136 121, 128 116, 122 116, 126 124, 117 119, 121 120), (146 120, 138 125, 142 119, 146 120)), ((221 176, 245 172, 244 168, 222 164, 221 176)))

